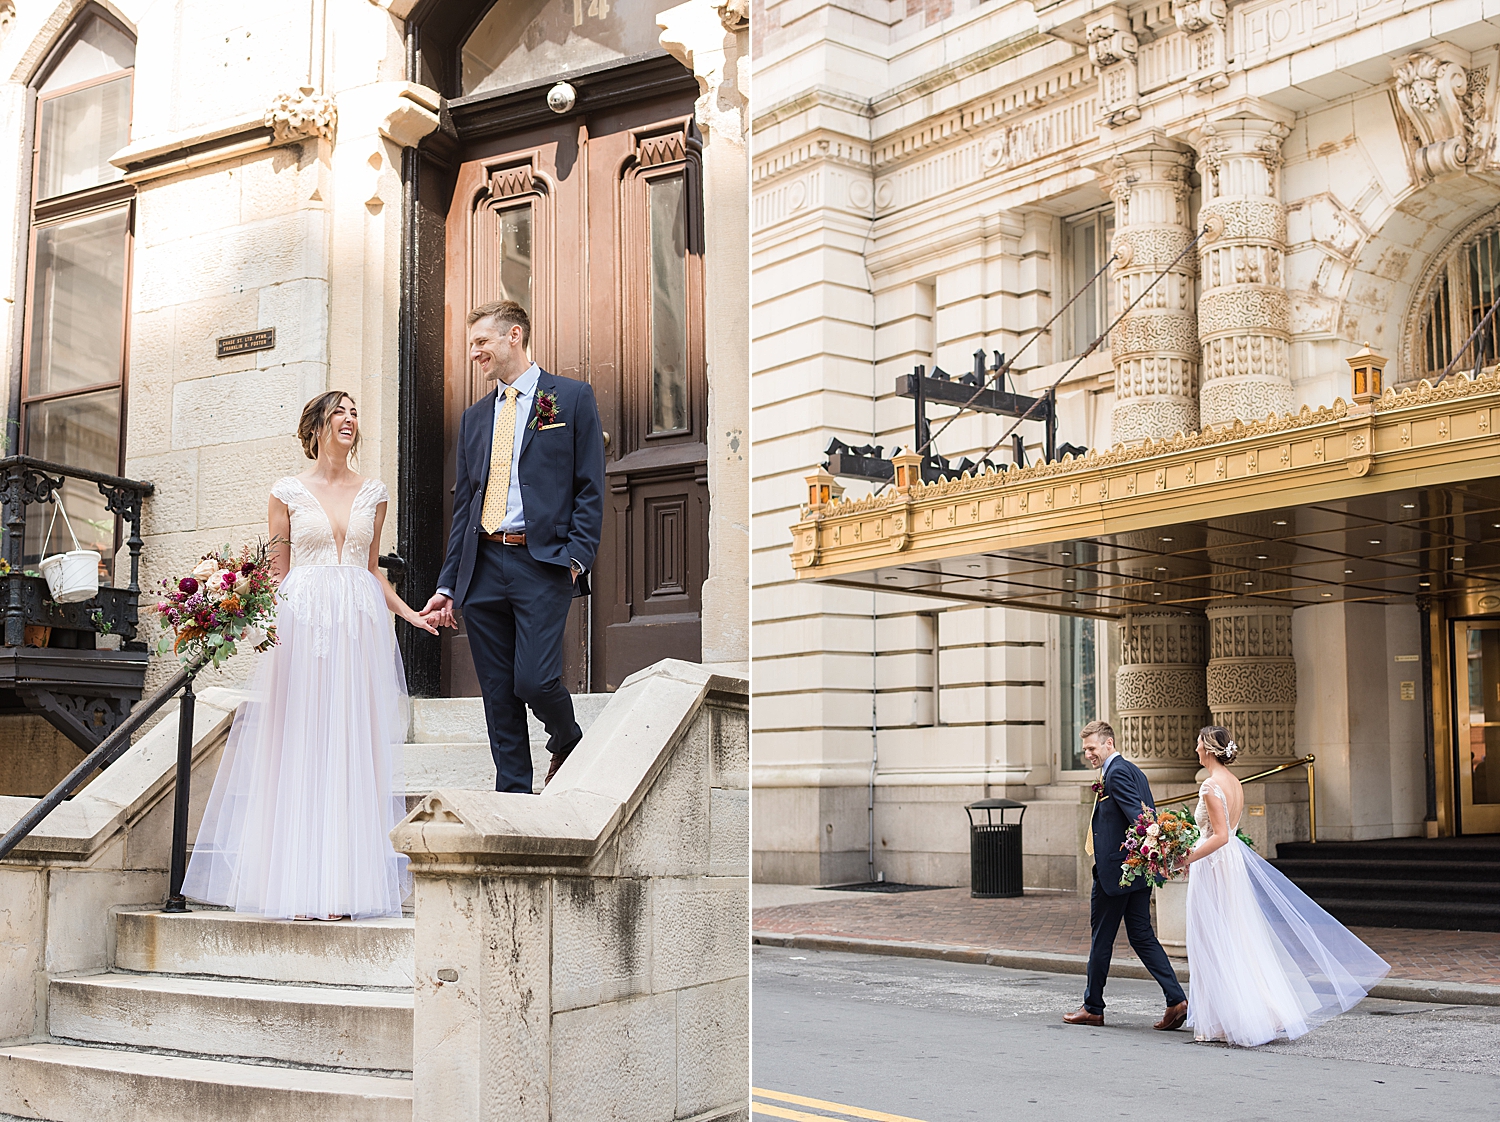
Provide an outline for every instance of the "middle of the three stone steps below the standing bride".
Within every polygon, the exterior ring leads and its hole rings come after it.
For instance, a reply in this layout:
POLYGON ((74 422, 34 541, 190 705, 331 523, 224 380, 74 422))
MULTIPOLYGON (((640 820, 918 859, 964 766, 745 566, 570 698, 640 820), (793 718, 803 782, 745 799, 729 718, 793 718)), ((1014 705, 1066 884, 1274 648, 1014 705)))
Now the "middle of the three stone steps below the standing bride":
POLYGON ((52 978, 46 1011, 66 1041, 411 1071, 410 992, 96 974, 52 978))

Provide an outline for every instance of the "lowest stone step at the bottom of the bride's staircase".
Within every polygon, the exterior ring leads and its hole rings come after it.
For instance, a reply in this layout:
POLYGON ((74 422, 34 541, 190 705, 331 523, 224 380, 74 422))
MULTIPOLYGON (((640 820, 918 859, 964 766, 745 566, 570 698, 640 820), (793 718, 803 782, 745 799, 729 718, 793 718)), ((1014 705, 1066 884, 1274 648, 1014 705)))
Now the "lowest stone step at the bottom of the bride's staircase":
POLYGON ((411 1080, 21 1044, 0 1047, 0 1114, 50 1122, 411 1122, 411 1080))

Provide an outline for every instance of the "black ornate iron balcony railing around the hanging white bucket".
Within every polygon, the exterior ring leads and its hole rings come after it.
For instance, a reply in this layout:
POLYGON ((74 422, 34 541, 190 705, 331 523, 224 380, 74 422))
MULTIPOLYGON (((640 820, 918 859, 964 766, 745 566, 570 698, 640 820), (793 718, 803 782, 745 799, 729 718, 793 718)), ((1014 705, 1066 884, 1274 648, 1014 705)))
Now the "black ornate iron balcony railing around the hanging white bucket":
MULTIPOLYGON (((4 594, 4 645, 22 646, 27 624, 56 627, 72 632, 106 632, 118 634, 126 650, 146 650, 136 642, 140 624, 138 602, 141 592, 141 507, 146 496, 156 488, 141 480, 106 476, 102 471, 70 468, 32 456, 6 456, 0 459, 0 507, 3 507, 6 542, 4 560, 9 573, 3 578, 4 594), (128 536, 130 550, 130 582, 120 588, 104 586, 93 600, 74 604, 54 603, 46 582, 27 576, 26 560, 26 513, 36 502, 57 501, 57 492, 69 478, 93 483, 105 498, 105 507, 118 514, 128 536)), ((90 644, 92 645, 92 644, 90 644)))

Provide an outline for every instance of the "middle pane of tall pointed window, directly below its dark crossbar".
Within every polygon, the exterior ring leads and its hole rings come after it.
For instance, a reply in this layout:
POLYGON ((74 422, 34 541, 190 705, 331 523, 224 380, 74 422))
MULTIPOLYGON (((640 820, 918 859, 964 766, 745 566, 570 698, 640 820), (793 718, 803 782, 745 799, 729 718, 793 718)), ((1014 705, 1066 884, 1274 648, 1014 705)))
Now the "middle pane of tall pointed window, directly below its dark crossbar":
POLYGON ((36 231, 27 393, 120 380, 126 208, 36 231))

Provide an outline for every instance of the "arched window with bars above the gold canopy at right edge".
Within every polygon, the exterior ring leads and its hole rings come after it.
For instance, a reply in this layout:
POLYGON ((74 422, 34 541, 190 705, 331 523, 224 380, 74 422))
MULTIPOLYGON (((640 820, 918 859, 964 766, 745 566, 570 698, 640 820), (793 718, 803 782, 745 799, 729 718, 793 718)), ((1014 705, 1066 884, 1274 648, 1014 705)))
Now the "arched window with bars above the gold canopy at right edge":
MULTIPOLYGON (((1484 321, 1500 294, 1500 214, 1491 214, 1479 230, 1468 230, 1440 258, 1422 304, 1416 354, 1420 378, 1440 375, 1468 336, 1484 321)), ((1474 368, 1474 351, 1484 366, 1500 354, 1500 314, 1485 324, 1474 345, 1462 352, 1456 369, 1474 368)))

